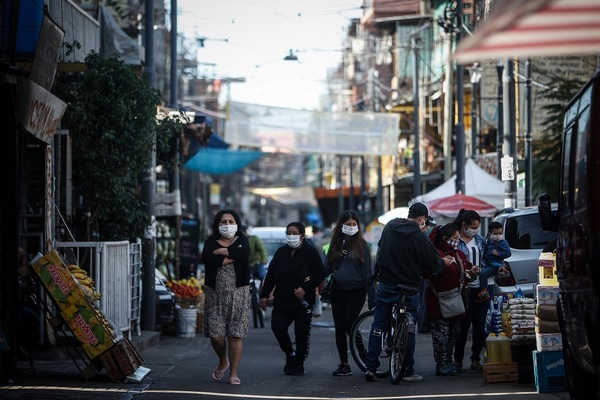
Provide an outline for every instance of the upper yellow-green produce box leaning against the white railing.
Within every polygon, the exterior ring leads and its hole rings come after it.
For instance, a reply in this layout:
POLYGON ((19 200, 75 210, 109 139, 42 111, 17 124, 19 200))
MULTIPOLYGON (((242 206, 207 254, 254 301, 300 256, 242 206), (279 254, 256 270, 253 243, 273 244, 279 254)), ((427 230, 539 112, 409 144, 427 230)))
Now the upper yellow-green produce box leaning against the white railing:
POLYGON ((66 310, 85 297, 79 283, 56 250, 36 257, 31 266, 59 310, 66 310))

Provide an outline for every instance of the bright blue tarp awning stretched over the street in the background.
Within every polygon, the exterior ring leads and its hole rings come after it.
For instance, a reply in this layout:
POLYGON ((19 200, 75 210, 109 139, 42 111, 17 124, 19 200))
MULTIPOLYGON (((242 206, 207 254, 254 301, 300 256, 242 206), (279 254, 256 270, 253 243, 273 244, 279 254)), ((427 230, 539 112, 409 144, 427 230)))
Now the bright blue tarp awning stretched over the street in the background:
POLYGON ((262 151, 202 147, 183 167, 205 174, 224 175, 241 170, 264 154, 262 151))

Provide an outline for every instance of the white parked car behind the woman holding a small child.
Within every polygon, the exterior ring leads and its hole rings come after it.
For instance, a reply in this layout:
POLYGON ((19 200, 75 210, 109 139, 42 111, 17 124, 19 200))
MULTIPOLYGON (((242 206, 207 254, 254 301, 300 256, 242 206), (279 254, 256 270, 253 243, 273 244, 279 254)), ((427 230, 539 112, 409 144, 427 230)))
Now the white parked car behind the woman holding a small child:
POLYGON ((538 282, 538 259, 543 248, 556 240, 556 232, 542 230, 537 207, 507 210, 495 220, 504 227, 504 238, 512 253, 504 260, 508 272, 496 275, 496 294, 514 295, 521 289, 525 296, 533 297, 538 282))

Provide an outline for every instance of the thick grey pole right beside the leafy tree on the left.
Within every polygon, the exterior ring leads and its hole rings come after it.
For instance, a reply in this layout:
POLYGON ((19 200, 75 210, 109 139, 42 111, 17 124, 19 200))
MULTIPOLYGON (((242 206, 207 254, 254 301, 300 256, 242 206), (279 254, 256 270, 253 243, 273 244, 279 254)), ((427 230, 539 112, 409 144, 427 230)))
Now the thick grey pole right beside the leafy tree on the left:
MULTIPOLYGON (((145 68, 144 73, 148 86, 154 87, 154 0, 145 2, 145 68)), ((154 135, 154 132, 151 134, 154 135)), ((148 168, 142 174, 141 196, 146 205, 146 228, 142 240, 142 329, 153 331, 156 327, 156 303, 154 300, 154 276, 156 268, 156 217, 155 217, 155 182, 156 182, 156 149, 148 149, 151 153, 148 168)))

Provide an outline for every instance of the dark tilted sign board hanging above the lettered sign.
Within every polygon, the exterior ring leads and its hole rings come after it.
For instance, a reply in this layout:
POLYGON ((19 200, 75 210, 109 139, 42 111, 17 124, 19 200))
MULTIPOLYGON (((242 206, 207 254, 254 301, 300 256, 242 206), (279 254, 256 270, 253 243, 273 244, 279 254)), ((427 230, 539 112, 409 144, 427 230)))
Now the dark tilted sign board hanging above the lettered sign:
POLYGON ((42 21, 40 36, 35 49, 29 78, 46 90, 52 89, 58 56, 63 45, 65 32, 48 16, 42 21))

